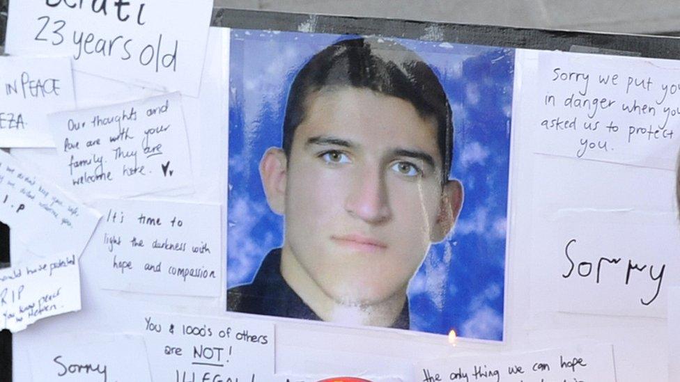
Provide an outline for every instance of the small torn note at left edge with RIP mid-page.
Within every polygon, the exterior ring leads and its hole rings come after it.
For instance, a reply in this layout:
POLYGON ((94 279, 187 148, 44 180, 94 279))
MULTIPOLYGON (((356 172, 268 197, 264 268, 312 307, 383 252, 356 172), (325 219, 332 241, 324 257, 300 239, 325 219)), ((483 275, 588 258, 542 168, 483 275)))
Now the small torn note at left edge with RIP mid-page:
POLYGON ((46 317, 80 310, 76 255, 57 255, 0 269, 3 328, 22 331, 46 317))

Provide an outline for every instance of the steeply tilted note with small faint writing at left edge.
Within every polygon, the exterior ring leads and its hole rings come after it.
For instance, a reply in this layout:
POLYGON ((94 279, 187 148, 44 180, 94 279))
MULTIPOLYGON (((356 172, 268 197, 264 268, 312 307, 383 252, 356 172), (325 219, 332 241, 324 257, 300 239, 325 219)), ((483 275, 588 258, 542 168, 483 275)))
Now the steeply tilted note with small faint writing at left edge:
POLYGON ((10 154, 0 151, 0 221, 38 255, 68 251, 78 256, 100 215, 40 180, 10 154))

